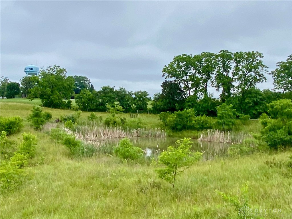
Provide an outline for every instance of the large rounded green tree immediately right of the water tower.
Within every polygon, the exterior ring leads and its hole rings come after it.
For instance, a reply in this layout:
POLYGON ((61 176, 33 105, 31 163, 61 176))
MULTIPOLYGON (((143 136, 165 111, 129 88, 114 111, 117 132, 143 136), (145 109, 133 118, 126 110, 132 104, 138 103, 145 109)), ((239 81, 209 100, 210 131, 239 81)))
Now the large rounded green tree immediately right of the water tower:
POLYGON ((66 72, 57 65, 41 69, 39 84, 31 89, 29 98, 39 96, 45 107, 67 108, 63 99, 70 99, 74 92, 74 78, 66 77, 66 72))

